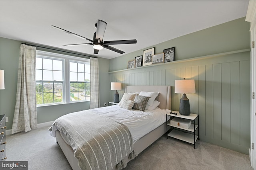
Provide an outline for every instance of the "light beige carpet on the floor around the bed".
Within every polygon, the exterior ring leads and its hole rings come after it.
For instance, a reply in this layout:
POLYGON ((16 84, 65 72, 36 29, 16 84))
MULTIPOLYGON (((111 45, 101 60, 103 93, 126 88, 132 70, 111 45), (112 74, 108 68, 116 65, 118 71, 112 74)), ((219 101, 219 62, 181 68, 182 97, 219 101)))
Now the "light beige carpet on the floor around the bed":
MULTIPOLYGON (((6 136, 7 160, 27 160, 28 170, 71 170, 48 127, 6 136)), ((193 145, 162 136, 124 170, 253 170, 249 156, 206 142, 193 145)))

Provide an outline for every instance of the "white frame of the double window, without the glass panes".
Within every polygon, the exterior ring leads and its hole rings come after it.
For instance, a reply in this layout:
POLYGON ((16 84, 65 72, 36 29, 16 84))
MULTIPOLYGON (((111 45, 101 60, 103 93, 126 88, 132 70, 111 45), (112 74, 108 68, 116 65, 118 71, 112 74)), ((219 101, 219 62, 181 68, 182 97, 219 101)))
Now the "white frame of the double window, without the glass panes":
MULTIPOLYGON (((48 52, 48 51, 41 51, 41 50, 36 50, 36 58, 56 59, 56 60, 64 61, 63 65, 62 65, 62 68, 63 68, 63 71, 62 71, 62 74, 63 74, 62 98, 63 98, 63 100, 62 101, 63 102, 50 103, 50 104, 39 104, 39 105, 37 104, 37 107, 90 101, 90 98, 87 100, 77 100, 77 101, 70 100, 70 66, 69 66, 69 63, 72 61, 77 62, 77 63, 88 64, 90 66, 90 59, 74 57, 74 56, 64 55, 64 54, 60 54, 60 53, 52 53, 52 52, 48 52)), ((44 82, 44 81, 42 80, 40 82, 44 82)), ((60 81, 53 81, 53 82, 60 82, 60 81)))

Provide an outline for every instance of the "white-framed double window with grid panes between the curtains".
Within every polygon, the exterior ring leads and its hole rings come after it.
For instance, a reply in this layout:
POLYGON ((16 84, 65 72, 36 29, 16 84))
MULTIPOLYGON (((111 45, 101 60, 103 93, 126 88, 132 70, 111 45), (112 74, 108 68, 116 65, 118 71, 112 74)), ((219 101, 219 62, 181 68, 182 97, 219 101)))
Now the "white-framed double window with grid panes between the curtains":
POLYGON ((36 51, 37 106, 90 100, 90 60, 36 51))

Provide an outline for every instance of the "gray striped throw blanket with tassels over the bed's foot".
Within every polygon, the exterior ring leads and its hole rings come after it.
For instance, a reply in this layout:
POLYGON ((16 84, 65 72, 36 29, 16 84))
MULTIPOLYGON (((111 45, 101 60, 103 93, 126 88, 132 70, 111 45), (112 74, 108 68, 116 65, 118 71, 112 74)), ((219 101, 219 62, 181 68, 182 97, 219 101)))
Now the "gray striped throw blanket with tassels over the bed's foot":
POLYGON ((116 165, 121 169, 126 155, 135 157, 128 128, 91 110, 56 119, 50 131, 55 134, 56 129, 66 135, 82 170, 109 170, 116 165))

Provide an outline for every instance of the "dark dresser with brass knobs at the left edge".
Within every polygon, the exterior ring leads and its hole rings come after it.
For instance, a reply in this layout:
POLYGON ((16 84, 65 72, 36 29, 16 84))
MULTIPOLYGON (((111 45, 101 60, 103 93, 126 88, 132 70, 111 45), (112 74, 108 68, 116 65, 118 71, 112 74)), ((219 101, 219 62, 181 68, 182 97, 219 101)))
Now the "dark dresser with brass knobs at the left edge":
POLYGON ((6 160, 6 155, 5 155, 5 145, 6 145, 6 140, 5 140, 5 115, 0 115, 0 161, 6 160))

